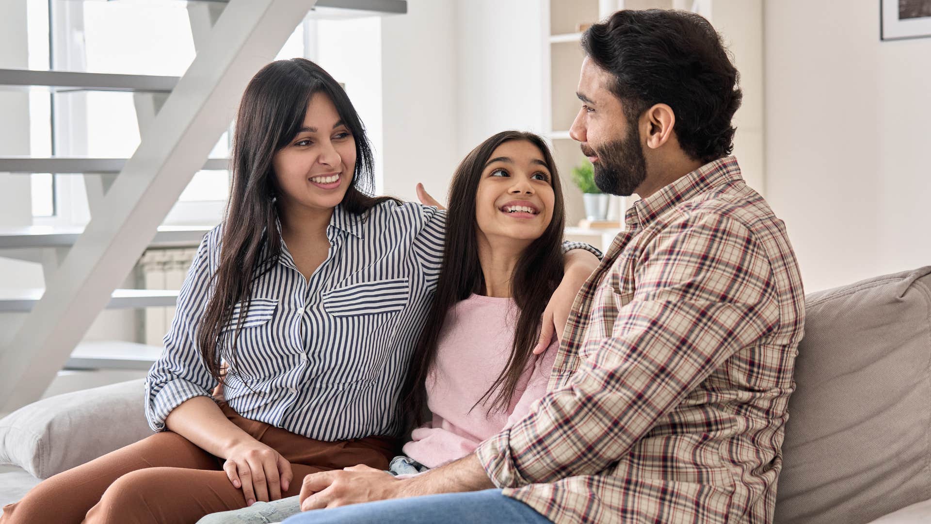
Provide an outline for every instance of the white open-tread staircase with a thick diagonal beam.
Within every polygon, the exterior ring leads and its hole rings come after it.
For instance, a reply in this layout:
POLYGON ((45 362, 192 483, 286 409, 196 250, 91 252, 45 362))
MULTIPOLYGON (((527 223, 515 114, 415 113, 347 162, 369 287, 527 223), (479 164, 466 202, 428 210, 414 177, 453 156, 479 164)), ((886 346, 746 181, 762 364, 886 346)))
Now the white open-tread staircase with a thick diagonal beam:
POLYGON ((190 1, 196 58, 184 76, 0 69, 0 88, 119 90, 134 95, 142 143, 129 159, 0 157, 0 172, 86 177, 85 228, 0 228, 0 256, 41 262, 46 289, 0 289, 0 313, 25 313, 0 347, 0 412, 37 400, 64 368, 145 369, 160 348, 81 342, 103 309, 172 306, 177 290, 117 289, 149 247, 196 246, 207 228, 159 225, 227 130, 250 77, 274 60, 309 10, 405 13, 404 0, 190 1), (348 10, 348 11, 347 11, 348 10))

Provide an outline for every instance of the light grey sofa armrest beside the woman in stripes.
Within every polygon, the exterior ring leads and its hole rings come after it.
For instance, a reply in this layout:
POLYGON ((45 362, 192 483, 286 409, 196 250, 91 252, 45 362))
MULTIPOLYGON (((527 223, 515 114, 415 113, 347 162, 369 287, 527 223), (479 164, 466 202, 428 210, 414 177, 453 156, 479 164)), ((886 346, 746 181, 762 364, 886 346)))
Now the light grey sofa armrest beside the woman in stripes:
POLYGON ((152 434, 142 379, 52 396, 0 419, 0 464, 47 478, 152 434))

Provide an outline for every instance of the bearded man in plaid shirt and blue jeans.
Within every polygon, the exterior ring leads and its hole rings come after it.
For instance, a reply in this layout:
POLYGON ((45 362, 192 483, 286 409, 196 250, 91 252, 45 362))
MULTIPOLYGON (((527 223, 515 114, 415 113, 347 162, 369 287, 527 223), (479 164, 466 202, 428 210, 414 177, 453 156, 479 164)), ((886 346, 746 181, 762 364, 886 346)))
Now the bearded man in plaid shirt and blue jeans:
POLYGON ((641 200, 576 299, 549 392, 421 476, 309 476, 304 510, 382 502, 287 522, 772 521, 803 288, 727 156, 737 71, 681 11, 617 12, 582 45, 571 134, 601 189, 641 200))

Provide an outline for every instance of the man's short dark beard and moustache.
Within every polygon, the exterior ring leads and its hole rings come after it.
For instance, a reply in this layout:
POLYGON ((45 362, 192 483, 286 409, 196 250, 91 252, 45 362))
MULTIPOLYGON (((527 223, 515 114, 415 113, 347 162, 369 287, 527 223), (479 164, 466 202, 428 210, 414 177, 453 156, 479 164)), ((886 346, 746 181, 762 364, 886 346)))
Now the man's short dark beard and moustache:
POLYGON ((629 197, 646 180, 646 159, 636 126, 627 128, 627 136, 591 149, 582 145, 587 157, 598 156, 594 162, 595 186, 605 193, 629 197))

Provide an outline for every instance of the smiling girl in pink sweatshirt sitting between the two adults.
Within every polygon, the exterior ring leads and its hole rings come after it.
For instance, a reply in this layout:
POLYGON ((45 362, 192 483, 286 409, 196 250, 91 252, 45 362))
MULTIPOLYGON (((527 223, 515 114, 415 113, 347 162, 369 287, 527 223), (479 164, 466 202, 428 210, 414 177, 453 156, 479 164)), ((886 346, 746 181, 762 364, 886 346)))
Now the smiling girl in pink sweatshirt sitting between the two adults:
MULTIPOLYGON (((493 135, 459 165, 449 201, 436 297, 398 403, 398 418, 420 427, 391 462, 394 475, 466 456, 519 421, 546 393, 556 356, 557 342, 532 352, 562 278, 562 190, 546 143, 528 132, 493 135)), ((291 497, 198 524, 280 522, 299 511, 291 497)))

